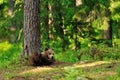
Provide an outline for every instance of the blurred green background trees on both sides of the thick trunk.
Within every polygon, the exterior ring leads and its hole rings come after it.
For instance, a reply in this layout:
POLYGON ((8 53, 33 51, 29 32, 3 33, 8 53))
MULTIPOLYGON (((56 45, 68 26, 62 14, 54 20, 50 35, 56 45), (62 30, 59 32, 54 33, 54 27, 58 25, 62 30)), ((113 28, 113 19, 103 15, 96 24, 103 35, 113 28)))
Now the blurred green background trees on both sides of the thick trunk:
MULTIPOLYGON (((119 0, 41 0, 40 4, 42 48, 119 46, 119 0)), ((1 41, 16 42, 23 27, 23 1, 1 0, 0 23, 1 41)))

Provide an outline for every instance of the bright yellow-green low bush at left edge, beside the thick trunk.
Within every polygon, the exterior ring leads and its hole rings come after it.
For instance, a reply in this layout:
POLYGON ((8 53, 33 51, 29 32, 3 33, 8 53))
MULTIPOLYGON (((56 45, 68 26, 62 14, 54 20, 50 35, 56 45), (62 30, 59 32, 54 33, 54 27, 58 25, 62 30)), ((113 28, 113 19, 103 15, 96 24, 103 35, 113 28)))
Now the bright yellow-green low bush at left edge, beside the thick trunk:
POLYGON ((21 47, 18 44, 3 42, 0 43, 0 52, 0 68, 8 67, 9 64, 18 59, 21 47))

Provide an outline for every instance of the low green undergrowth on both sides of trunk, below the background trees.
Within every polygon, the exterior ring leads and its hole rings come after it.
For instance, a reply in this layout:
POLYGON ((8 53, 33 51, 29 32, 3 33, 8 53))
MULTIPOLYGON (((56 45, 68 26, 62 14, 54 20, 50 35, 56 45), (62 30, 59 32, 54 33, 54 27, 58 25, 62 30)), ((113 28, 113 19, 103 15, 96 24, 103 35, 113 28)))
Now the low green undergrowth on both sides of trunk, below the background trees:
MULTIPOLYGON (((120 58, 119 48, 105 46, 97 46, 96 48, 101 53, 103 60, 117 60, 120 58)), ((95 58, 91 56, 91 48, 66 51, 61 51, 61 48, 54 48, 54 50, 55 59, 58 61, 75 63, 84 60, 99 60, 99 55, 95 55, 95 58), (81 54, 82 56, 79 58, 81 54)), ((21 51, 21 44, 11 44, 7 41, 0 43, 0 68, 8 67, 11 63, 17 63, 21 51)))

